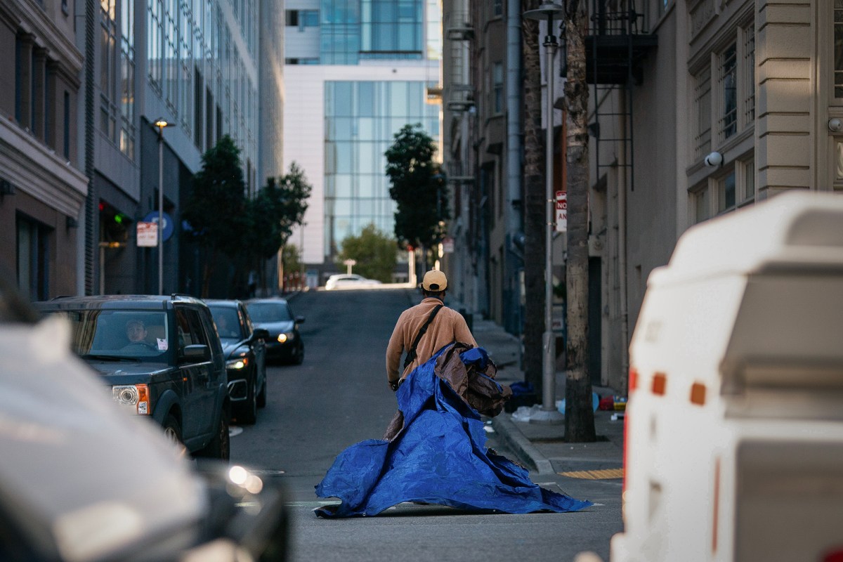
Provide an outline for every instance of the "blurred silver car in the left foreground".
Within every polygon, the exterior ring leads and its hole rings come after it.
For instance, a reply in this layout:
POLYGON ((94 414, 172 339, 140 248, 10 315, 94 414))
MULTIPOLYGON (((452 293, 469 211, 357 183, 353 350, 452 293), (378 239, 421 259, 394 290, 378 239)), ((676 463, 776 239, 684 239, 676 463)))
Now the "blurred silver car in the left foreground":
POLYGON ((278 483, 185 462, 72 354, 78 326, 37 322, 2 278, 0 267, 0 560, 286 559, 278 483))

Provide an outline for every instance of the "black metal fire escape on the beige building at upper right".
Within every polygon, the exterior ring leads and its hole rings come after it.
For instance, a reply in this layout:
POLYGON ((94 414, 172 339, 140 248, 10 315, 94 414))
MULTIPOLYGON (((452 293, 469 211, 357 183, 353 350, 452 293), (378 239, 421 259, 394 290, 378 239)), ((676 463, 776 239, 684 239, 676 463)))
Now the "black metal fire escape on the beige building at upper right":
POLYGON ((593 0, 591 13, 586 82, 594 86, 594 121, 588 129, 596 140, 597 179, 604 169, 617 167, 635 190, 632 86, 642 83, 642 61, 658 37, 639 29, 643 13, 636 12, 635 0, 593 0))

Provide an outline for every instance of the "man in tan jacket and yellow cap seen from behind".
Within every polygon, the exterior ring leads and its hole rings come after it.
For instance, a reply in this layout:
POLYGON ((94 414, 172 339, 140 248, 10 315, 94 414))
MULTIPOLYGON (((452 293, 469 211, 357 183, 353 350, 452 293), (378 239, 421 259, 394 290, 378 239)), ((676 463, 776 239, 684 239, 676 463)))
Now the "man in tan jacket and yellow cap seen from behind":
POLYGON ((416 306, 407 308, 398 318, 386 348, 386 377, 393 391, 398 390, 400 381, 413 369, 425 363, 445 345, 459 341, 477 347, 462 314, 444 306, 447 289, 448 278, 442 271, 428 271, 421 280, 421 294, 424 298, 416 306), (408 361, 405 361, 403 371, 399 372, 402 351, 407 351, 408 361))

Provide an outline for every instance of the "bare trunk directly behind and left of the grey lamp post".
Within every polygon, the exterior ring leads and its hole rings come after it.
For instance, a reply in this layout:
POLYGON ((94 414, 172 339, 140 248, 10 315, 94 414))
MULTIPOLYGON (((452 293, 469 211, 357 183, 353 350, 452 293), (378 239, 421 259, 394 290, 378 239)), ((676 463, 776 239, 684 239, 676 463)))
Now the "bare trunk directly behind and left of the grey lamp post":
MULTIPOLYGON (((539 0, 524 0, 524 11, 539 0)), ((524 19, 524 380, 542 395, 545 332, 545 147, 541 135, 539 23, 524 19)))

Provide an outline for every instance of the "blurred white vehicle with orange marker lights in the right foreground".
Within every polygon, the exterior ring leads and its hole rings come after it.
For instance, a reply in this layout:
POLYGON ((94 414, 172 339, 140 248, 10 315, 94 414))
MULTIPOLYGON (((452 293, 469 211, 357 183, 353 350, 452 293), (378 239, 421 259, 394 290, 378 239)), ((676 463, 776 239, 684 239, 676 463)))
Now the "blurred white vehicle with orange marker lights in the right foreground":
POLYGON ((843 196, 691 228, 630 364, 612 562, 843 560, 843 196))

